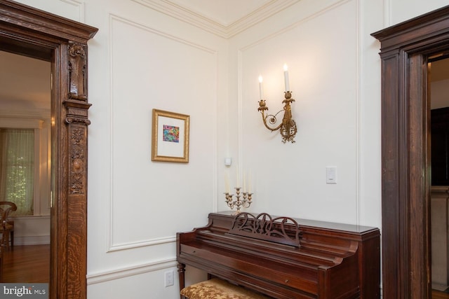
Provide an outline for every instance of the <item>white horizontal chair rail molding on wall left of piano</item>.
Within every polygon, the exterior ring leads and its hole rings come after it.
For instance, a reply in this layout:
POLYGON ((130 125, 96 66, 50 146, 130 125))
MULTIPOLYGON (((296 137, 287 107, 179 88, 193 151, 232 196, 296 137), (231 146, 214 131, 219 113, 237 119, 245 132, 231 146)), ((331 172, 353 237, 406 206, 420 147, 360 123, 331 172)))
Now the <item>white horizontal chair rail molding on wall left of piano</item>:
POLYGON ((166 260, 158 260, 154 263, 147 263, 142 265, 135 265, 133 267, 123 267, 116 270, 109 270, 105 272, 98 272, 87 275, 87 284, 100 284, 105 281, 111 281, 114 279, 121 279, 123 277, 130 277, 138 274, 144 274, 147 272, 154 272, 158 270, 168 269, 176 267, 176 258, 169 258, 166 260))

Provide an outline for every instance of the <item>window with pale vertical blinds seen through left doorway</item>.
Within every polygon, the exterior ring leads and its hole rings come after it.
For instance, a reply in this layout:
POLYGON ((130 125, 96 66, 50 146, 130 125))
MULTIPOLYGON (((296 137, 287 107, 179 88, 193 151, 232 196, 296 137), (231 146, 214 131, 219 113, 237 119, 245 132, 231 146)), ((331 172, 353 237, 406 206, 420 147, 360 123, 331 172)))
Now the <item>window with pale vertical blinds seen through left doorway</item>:
POLYGON ((34 214, 34 129, 0 129, 0 200, 17 205, 13 216, 34 214))

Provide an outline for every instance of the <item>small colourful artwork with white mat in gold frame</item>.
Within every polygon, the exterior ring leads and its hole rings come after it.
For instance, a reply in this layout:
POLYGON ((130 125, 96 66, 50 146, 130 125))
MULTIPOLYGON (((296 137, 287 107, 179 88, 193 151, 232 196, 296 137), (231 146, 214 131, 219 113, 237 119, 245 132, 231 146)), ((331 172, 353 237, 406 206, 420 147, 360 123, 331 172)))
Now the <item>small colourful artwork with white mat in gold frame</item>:
POLYGON ((190 116, 153 109, 152 161, 189 162, 190 116))

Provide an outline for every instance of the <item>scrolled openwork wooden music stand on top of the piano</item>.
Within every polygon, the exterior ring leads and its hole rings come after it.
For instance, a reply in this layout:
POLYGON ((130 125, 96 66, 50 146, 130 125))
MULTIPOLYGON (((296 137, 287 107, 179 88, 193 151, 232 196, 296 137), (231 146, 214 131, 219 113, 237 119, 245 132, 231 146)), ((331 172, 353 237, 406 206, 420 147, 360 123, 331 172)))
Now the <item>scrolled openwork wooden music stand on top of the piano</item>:
POLYGON ((302 235, 299 225, 293 218, 272 218, 267 213, 254 216, 246 212, 234 217, 229 233, 296 247, 300 247, 302 235))

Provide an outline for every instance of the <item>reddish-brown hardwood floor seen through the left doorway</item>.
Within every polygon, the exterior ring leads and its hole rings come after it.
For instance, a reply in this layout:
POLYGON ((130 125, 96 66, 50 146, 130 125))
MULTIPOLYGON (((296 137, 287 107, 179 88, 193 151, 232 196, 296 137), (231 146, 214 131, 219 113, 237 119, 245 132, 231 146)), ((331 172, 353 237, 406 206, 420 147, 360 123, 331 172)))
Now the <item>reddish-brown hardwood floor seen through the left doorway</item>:
POLYGON ((4 251, 1 282, 49 282, 50 245, 14 246, 4 251))

